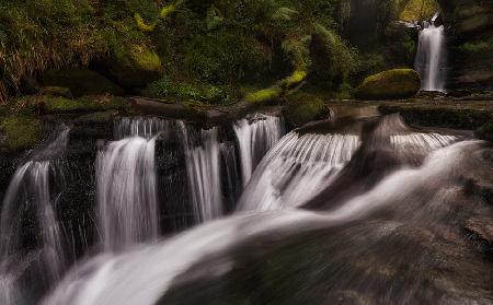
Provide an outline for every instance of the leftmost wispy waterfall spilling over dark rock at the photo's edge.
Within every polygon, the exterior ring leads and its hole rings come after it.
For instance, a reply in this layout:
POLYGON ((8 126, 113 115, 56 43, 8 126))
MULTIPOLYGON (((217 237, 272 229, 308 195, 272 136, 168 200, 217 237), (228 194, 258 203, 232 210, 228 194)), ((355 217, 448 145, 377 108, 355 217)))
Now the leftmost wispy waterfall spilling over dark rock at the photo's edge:
POLYGON ((62 275, 66 257, 62 232, 57 218, 57 200, 65 183, 62 161, 70 129, 61 126, 48 145, 33 151, 20 166, 5 193, 0 224, 0 303, 18 304, 23 298, 18 283, 34 261, 39 263, 41 278, 49 285, 62 275), (25 219, 36 232, 24 232, 25 219), (34 234, 35 247, 25 249, 25 234, 34 234))

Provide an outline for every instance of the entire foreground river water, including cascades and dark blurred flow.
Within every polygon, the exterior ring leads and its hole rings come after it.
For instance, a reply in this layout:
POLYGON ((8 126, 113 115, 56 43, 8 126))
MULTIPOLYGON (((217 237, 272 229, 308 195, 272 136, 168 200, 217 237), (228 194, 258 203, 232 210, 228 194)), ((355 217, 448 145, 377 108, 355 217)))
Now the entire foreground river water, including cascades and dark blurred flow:
MULTIPOLYGON (((53 151, 62 152, 64 132, 53 151)), ((491 262, 463 228, 493 213, 471 186, 491 177, 484 143, 374 108, 334 109, 284 132, 265 115, 209 129, 116 121, 95 160, 99 242, 68 272, 49 185, 62 171, 38 151, 4 199, 0 301, 492 304, 491 262), (27 197, 43 213, 42 238, 26 251, 24 224, 12 221, 27 197), (188 225, 165 230, 184 215, 188 225), (34 261, 54 289, 26 293, 37 286, 25 281, 34 261)))

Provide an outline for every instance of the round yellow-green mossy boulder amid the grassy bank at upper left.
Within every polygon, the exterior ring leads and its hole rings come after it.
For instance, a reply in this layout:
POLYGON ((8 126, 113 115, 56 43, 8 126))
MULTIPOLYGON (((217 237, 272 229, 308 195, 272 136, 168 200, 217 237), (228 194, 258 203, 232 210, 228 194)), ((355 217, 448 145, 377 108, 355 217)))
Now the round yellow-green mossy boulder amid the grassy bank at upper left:
POLYGON ((115 51, 106 66, 110 77, 128 89, 145 87, 163 75, 159 56, 153 50, 137 45, 115 51))

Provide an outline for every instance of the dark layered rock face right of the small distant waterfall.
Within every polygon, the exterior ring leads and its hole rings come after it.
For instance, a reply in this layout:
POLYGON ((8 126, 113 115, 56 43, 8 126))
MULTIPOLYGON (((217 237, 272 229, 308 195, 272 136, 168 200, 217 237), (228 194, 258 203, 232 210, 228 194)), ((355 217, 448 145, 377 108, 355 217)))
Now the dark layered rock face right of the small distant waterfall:
POLYGON ((458 89, 493 89, 493 1, 439 0, 449 28, 450 81, 458 89))

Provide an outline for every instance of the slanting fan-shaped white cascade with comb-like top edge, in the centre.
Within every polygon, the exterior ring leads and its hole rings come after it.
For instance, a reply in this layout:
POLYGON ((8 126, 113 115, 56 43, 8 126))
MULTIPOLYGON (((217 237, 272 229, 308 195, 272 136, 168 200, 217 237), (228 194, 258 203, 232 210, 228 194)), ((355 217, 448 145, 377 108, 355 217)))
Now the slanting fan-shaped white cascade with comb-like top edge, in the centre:
POLYGON ((359 146, 353 134, 293 131, 264 157, 246 186, 238 210, 293 208, 317 196, 359 146))

